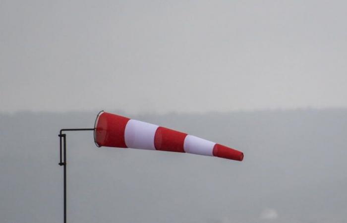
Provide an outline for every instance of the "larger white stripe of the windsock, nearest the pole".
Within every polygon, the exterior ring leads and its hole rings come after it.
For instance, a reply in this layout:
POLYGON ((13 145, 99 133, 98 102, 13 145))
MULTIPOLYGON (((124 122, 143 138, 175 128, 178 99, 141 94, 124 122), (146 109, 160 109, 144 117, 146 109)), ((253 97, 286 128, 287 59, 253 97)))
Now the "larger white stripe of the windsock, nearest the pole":
POLYGON ((124 132, 125 144, 128 148, 155 150, 154 135, 158 125, 130 119, 124 132))

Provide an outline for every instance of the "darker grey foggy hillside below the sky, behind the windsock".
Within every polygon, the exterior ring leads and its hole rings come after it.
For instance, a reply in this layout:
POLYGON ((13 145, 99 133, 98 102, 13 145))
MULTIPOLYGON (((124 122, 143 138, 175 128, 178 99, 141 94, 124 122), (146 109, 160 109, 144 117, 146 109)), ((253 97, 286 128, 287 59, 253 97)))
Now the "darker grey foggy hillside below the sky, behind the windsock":
MULTIPOLYGON (((93 127, 96 114, 0 115, 1 223, 62 222, 58 131, 93 127)), ((347 221, 346 109, 131 117, 236 148, 244 160, 97 148, 92 132, 69 132, 69 222, 347 221)))

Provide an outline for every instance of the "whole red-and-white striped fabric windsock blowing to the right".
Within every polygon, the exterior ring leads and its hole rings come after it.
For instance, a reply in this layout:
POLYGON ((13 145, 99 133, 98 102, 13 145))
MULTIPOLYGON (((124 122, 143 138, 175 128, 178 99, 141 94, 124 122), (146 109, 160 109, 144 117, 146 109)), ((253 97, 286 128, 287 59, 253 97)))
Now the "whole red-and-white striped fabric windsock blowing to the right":
POLYGON ((183 132, 101 111, 94 126, 98 147, 135 148, 191 153, 243 160, 243 153, 183 132))

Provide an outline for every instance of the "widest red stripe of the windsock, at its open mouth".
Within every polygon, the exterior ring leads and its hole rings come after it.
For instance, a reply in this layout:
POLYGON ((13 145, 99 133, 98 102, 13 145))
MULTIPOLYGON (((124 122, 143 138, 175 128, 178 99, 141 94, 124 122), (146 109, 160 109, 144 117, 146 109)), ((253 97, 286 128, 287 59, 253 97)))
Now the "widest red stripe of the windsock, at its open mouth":
POLYGON ((95 126, 95 141, 99 146, 127 148, 124 140, 126 123, 130 118, 103 112, 95 126))

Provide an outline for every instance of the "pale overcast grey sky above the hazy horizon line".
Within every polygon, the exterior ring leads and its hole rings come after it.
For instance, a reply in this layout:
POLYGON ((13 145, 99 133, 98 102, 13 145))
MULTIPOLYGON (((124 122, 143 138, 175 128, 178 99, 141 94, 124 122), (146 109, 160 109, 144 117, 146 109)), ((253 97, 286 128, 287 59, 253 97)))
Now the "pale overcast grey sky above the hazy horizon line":
POLYGON ((346 1, 0 1, 0 111, 347 106, 346 1))

